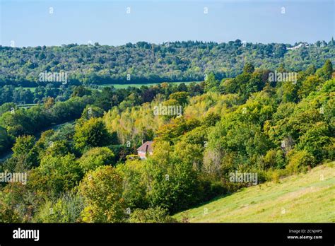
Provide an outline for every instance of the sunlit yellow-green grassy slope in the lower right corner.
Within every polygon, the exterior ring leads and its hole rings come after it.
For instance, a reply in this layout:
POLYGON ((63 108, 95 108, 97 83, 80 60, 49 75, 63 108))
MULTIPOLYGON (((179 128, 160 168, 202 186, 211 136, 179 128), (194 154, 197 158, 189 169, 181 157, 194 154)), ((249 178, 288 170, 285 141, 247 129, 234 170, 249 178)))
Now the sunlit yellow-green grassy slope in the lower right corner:
MULTIPOLYGON (((183 213, 190 222, 335 222, 335 162, 183 213)), ((174 217, 180 220, 182 213, 174 217)))

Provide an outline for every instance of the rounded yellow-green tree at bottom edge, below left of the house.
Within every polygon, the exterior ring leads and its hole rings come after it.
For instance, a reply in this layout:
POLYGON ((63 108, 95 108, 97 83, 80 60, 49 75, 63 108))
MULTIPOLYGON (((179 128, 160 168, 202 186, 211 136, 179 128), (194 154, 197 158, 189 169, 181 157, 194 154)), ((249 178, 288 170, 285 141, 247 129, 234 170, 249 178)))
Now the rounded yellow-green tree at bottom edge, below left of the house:
POLYGON ((125 219, 122 177, 111 166, 102 166, 86 174, 79 185, 86 207, 84 222, 114 223, 125 219))

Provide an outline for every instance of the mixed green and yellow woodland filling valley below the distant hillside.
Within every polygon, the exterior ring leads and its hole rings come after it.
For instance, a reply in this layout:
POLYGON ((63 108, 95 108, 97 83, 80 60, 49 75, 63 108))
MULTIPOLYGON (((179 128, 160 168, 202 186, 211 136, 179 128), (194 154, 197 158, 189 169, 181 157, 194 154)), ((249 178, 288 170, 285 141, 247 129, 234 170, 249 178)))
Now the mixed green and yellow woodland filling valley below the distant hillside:
POLYGON ((64 102, 1 105, 0 151, 13 155, 0 172, 28 180, 1 182, 0 222, 174 222, 173 213, 250 185, 230 182, 231 172, 278 182, 334 160, 331 60, 295 81, 270 73, 246 63, 234 78, 211 73, 188 86, 76 86, 64 102), (182 115, 156 115, 157 105, 182 115), (142 141, 153 141, 145 160, 136 157, 142 141))

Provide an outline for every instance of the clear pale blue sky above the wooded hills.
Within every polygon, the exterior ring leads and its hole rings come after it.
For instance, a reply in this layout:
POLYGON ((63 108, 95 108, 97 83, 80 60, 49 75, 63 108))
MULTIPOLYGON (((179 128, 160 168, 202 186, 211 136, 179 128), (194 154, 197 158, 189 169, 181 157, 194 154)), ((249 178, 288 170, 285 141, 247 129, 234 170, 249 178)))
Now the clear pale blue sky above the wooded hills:
POLYGON ((3 46, 236 39, 294 44, 334 36, 334 0, 0 1, 3 46))

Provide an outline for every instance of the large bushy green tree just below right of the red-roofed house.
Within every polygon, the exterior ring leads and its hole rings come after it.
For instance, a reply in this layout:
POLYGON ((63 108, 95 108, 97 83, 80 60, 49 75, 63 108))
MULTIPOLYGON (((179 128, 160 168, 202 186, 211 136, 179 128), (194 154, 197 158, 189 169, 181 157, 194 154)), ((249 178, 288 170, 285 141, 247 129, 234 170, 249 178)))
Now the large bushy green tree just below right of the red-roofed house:
POLYGON ((199 180, 193 165, 173 155, 167 142, 155 144, 146 165, 146 182, 151 206, 161 206, 170 213, 186 209, 199 201, 199 180))

